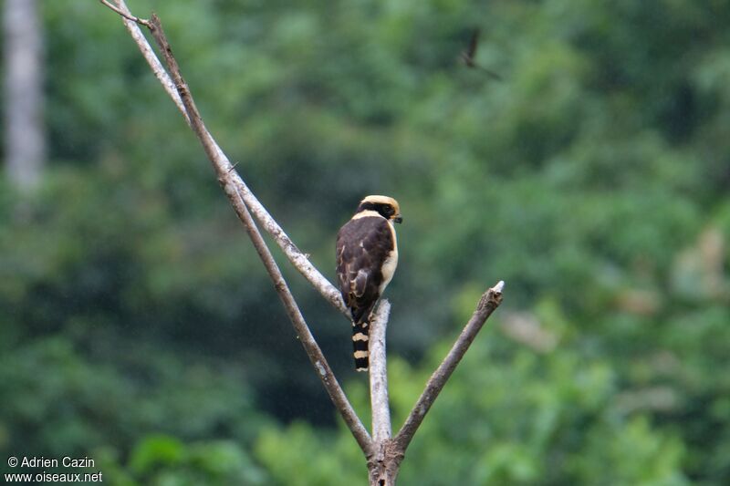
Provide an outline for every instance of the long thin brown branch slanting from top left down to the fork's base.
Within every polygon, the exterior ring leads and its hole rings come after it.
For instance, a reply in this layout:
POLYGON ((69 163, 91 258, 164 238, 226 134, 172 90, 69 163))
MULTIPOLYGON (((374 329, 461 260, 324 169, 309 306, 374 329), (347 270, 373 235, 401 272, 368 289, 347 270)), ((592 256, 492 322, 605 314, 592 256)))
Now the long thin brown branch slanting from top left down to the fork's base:
MULTIPOLYGON (((121 1, 123 0, 120 0, 120 2, 121 1)), ((129 20, 127 16, 124 16, 124 18, 129 20)), ((223 150, 221 150, 217 143, 215 143, 210 132, 205 129, 203 119, 201 118, 200 112, 193 101, 193 96, 190 93, 190 88, 188 88, 180 74, 180 67, 177 64, 177 60, 172 56, 172 49, 164 35, 164 31, 162 30, 160 17, 152 14, 151 20, 143 25, 150 29, 152 37, 162 50, 165 62, 172 76, 172 80, 174 81, 174 86, 183 101, 185 111, 187 112, 188 119, 190 120, 190 125, 198 139, 201 141, 203 150, 205 150, 208 159, 211 160, 214 170, 218 175, 218 181, 220 181, 223 186, 225 194, 228 196, 229 201, 233 205, 238 218, 244 223, 246 232, 248 232, 251 241, 254 243, 256 252, 259 254, 262 262, 266 266, 266 271, 271 277, 271 280, 274 282, 276 292, 284 304, 284 307, 287 309, 287 315, 297 332, 297 336, 299 337, 302 346, 304 346, 307 351, 309 360, 317 370, 319 378, 327 389, 329 397, 332 399, 335 407, 339 410, 342 419, 345 420, 345 423, 348 425, 352 435, 360 445, 360 449, 363 450, 366 456, 369 455, 372 448, 372 439, 370 439, 370 434, 368 434, 368 430, 362 425, 362 422, 355 413, 355 410, 349 404, 349 400, 345 396, 344 391, 342 391, 342 388, 339 386, 337 378, 334 376, 328 365, 327 359, 322 354, 314 336, 312 336, 309 331, 307 323, 304 320, 304 316, 301 314, 294 296, 291 294, 280 269, 276 265, 274 257, 271 252, 269 252, 268 247, 266 247, 266 243, 264 242, 261 233, 259 233, 258 228, 256 228, 255 222, 251 217, 251 213, 246 207, 244 197, 238 191, 238 184, 235 183, 235 179, 237 178, 240 181, 240 177, 238 177, 237 174, 235 174, 235 177, 232 177, 231 174, 234 172, 234 166, 231 165, 230 161, 225 157, 223 150)), ((243 184, 243 181, 240 182, 243 184)), ((283 231, 281 233, 283 233, 283 231)), ((291 244, 293 246, 293 243, 291 244)))

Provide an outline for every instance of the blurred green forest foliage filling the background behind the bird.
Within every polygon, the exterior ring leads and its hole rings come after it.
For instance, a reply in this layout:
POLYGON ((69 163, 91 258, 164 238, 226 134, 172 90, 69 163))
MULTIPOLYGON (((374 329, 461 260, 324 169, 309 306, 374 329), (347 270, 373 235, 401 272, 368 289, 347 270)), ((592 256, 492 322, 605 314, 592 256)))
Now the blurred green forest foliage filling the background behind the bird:
MULTIPOLYGON (((129 4, 329 277, 360 198, 401 202, 396 427, 506 281, 403 484, 730 478, 730 2, 129 4), (475 26, 502 83, 457 62, 475 26)), ((51 160, 33 196, 0 181, 0 453, 88 455, 118 484, 364 482, 119 18, 42 5, 51 160)), ((348 324, 284 270, 369 417, 348 324)))

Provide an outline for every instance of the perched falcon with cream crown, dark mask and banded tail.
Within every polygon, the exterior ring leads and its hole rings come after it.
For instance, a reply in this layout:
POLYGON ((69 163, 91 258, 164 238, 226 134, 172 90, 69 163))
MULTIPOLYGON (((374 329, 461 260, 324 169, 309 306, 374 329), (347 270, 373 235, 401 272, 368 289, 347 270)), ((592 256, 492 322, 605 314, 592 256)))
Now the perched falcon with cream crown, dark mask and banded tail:
POLYGON ((398 202, 368 196, 337 234, 339 292, 352 316, 355 369, 368 370, 370 313, 398 265, 393 222, 401 222, 398 202))

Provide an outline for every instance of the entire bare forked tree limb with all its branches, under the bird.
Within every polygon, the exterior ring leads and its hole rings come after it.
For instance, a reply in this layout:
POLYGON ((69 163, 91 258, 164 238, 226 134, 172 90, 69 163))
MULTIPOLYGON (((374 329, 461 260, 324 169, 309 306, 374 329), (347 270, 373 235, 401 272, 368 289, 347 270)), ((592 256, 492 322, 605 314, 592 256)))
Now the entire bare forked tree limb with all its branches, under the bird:
POLYGON ((297 337, 307 352, 309 361, 315 368, 322 385, 327 389, 329 398, 331 398, 335 408, 338 409, 340 416, 347 424, 352 436, 360 445, 360 449, 367 459, 370 484, 378 486, 394 485, 401 461, 405 457, 405 451, 426 413, 433 405, 433 401, 454 373, 455 367, 474 342, 474 338, 484 326, 486 319, 492 315, 502 302, 504 282, 500 281, 482 295, 476 310, 474 310, 474 315, 464 326, 464 330, 456 339, 452 349, 444 357, 441 365, 436 368, 429 378, 421 397, 416 401, 411 413, 394 438, 391 435, 391 411, 388 399, 388 374, 385 353, 385 332, 391 305, 387 300, 381 301, 370 322, 370 403, 372 409, 372 437, 370 437, 368 430, 362 425, 362 421, 350 405, 347 396, 339 386, 337 377, 332 373, 327 359, 322 354, 317 341, 309 330, 294 295, 289 290, 281 270, 266 246, 256 221, 264 228, 266 233, 274 238, 276 244, 287 255, 289 262, 318 290, 319 294, 343 315, 349 317, 339 291, 309 262, 308 255, 299 251, 297 245, 289 239, 287 233, 271 217, 261 202, 255 198, 254 193, 246 186, 238 172, 235 171, 237 162, 232 164, 228 160, 224 151, 214 140, 208 129, 205 128, 200 112, 193 101, 190 88, 183 79, 177 60, 172 56, 172 48, 162 29, 160 17, 152 14, 148 20, 133 16, 124 0, 112 1, 99 0, 102 5, 106 5, 122 17, 130 36, 137 43, 152 72, 160 80, 162 87, 180 109, 185 121, 203 145, 203 150, 205 150, 205 154, 213 165, 225 195, 231 202, 236 215, 243 222, 245 230, 254 244, 256 253, 258 253, 266 267, 266 271, 276 288, 276 293, 279 295, 289 320, 295 328, 297 337), (153 49, 141 32, 140 26, 145 26, 150 31, 152 38, 162 52, 167 70, 154 54, 153 49))

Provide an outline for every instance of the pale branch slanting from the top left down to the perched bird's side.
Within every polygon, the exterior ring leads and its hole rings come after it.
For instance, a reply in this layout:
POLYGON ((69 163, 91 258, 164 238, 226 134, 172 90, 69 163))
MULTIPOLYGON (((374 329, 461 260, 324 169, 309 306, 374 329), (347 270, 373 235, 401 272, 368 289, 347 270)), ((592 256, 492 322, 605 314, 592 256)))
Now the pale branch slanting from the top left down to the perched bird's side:
MULTIPOLYGON (((349 319, 349 311, 342 302, 342 297, 339 295, 337 288, 330 284, 328 279, 325 278, 325 276, 322 275, 318 269, 311 264, 311 262, 309 262, 308 256, 297 248, 297 245, 291 241, 291 239, 287 236, 287 233, 285 233, 281 226, 279 226, 274 218, 271 217, 261 202, 256 199, 254 193, 248 188, 243 179, 241 179, 238 172, 235 171, 234 165, 225 156, 224 151, 221 150, 210 132, 205 129, 200 113, 192 102, 193 98, 190 96, 190 89, 187 87, 183 77, 180 75, 177 62, 174 60, 174 57, 172 57, 170 45, 162 33, 162 26, 159 23, 159 18, 153 15, 151 20, 145 20, 137 16, 132 16, 129 8, 127 8, 127 5, 124 3, 124 0, 115 1, 117 2, 118 8, 112 8, 112 10, 124 18, 125 26, 127 26, 127 29, 130 31, 130 35, 140 48, 142 55, 147 59, 147 62, 150 64, 155 76, 160 79, 162 86, 165 87, 165 90, 178 106, 178 109, 183 112, 188 124, 191 128, 193 128, 199 140, 201 140, 205 153, 214 165, 215 172, 218 175, 218 180, 221 184, 235 185, 238 197, 243 198, 248 210, 262 225, 264 230, 266 230, 266 233, 269 233, 274 238, 276 244, 278 244, 282 251, 287 255, 288 260, 295 268, 297 268, 297 271, 318 290, 320 295, 324 296, 331 305, 339 309, 339 312, 346 315, 349 319), (155 18, 157 18, 157 24, 155 24, 155 18), (135 23, 147 26, 150 29, 152 37, 161 48, 163 57, 165 57, 165 61, 168 63, 170 75, 165 72, 160 60, 154 55, 150 44, 147 42, 147 39, 142 35, 140 28, 135 23), (160 35, 161 33, 162 36, 160 35), (172 61, 172 66, 174 66, 174 68, 172 68, 169 64, 170 61, 172 61)), ((102 0, 101 3, 108 7, 111 6, 108 1, 102 0)))

